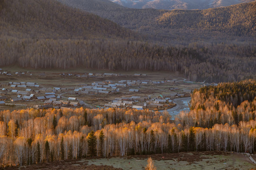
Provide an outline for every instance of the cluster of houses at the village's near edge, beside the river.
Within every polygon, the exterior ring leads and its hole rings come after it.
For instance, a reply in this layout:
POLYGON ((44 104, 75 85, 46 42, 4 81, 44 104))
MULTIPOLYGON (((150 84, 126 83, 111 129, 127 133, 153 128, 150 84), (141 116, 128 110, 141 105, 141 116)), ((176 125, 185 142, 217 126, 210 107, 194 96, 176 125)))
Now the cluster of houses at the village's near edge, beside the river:
MULTIPOLYGON (((176 94, 175 94, 176 95, 176 94)), ((116 98, 112 102, 104 105, 106 108, 127 108, 135 110, 163 110, 169 109, 173 106, 171 98, 175 97, 173 94, 159 95, 158 97, 151 99, 151 97, 123 97, 116 98)))

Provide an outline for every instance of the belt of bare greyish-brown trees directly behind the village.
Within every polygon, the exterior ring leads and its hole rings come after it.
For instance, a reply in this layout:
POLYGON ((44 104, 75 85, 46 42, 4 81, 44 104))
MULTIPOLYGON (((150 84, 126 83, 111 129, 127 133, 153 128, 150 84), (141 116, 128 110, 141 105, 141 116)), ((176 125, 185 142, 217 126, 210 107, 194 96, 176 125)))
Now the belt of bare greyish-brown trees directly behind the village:
POLYGON ((239 81, 256 75, 253 45, 160 46, 107 40, 2 39, 0 66, 167 70, 191 81, 239 81))

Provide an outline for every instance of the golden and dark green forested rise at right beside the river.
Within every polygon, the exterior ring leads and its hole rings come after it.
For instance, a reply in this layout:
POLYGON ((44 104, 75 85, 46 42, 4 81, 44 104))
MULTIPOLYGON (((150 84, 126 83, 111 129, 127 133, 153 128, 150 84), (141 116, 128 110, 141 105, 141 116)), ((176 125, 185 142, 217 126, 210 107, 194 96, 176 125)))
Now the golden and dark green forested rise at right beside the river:
POLYGON ((256 81, 221 83, 195 90, 191 95, 190 112, 180 113, 183 125, 212 127, 216 123, 239 125, 256 118, 256 81))

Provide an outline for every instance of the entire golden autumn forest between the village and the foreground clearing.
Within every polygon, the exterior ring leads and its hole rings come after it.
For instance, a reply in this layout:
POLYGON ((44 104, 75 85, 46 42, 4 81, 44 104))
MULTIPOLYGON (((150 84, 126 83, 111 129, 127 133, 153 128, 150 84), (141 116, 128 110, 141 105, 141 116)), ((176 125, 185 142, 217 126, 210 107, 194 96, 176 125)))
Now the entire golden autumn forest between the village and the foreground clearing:
POLYGON ((191 111, 181 112, 175 121, 168 112, 150 110, 3 110, 0 163, 7 166, 11 159, 22 166, 88 156, 188 151, 253 153, 255 89, 255 80, 201 88, 192 94, 191 111), (233 106, 229 101, 235 95, 240 99, 233 106))

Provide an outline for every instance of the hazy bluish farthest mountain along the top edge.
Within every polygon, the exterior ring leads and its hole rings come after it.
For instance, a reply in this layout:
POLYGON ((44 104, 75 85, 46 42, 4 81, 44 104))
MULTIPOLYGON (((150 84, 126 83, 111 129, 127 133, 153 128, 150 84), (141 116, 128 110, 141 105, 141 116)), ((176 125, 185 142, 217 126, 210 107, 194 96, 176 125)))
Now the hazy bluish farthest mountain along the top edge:
POLYGON ((111 0, 128 8, 208 9, 226 7, 254 0, 111 0))

